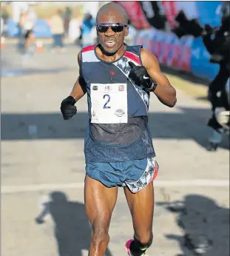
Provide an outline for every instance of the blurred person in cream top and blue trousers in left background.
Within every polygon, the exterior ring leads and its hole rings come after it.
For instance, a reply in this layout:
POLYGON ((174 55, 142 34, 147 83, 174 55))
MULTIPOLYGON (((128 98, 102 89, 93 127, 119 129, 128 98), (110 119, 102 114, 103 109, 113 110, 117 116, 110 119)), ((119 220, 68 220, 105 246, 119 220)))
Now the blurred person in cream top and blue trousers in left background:
POLYGON ((53 51, 55 49, 64 50, 63 37, 64 37, 64 21, 61 18, 62 12, 58 12, 50 19, 50 30, 53 34, 53 51))

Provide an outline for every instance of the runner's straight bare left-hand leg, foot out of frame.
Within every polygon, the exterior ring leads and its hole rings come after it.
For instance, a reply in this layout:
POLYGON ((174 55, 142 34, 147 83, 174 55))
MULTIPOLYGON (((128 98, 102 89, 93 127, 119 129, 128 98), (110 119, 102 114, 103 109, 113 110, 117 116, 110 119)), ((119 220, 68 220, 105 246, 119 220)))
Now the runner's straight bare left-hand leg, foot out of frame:
POLYGON ((118 196, 118 188, 108 188, 86 175, 85 205, 92 225, 89 256, 104 256, 109 243, 109 223, 118 196))

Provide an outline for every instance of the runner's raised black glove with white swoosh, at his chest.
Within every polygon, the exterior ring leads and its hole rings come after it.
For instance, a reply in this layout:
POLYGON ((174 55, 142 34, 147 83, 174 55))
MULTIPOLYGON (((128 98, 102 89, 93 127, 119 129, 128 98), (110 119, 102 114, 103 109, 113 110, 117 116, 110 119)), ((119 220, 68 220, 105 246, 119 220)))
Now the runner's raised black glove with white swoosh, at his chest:
POLYGON ((130 70, 130 73, 129 73, 129 78, 136 85, 146 87, 146 89, 149 90, 152 87, 153 80, 149 76, 146 68, 143 66, 135 66, 135 64, 133 64, 130 61, 129 61, 129 67, 132 68, 132 70, 130 70))

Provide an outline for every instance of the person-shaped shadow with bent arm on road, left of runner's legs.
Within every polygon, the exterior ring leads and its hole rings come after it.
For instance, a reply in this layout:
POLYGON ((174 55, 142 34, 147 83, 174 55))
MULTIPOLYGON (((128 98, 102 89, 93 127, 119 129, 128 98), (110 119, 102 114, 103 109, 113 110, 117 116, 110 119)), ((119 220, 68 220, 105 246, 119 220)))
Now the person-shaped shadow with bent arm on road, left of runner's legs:
MULTIPOLYGON (((84 203, 68 201, 64 192, 55 191, 50 194, 50 201, 44 203, 44 209, 35 222, 45 223, 48 214, 54 222, 59 256, 81 256, 82 250, 89 249, 91 226, 84 203)), ((109 250, 106 256, 112 256, 109 250)))

